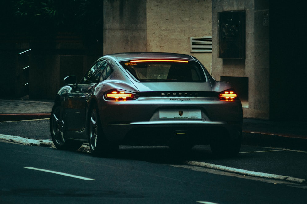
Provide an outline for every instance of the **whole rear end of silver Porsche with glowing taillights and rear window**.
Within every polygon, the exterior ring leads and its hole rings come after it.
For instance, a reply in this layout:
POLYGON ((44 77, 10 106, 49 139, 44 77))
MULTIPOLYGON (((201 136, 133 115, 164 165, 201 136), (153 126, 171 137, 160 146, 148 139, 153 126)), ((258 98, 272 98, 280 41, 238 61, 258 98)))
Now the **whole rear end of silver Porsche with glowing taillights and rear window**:
POLYGON ((193 57, 152 56, 119 61, 130 90, 101 96, 106 137, 120 144, 193 145, 239 139, 242 106, 229 83, 215 82, 193 57))

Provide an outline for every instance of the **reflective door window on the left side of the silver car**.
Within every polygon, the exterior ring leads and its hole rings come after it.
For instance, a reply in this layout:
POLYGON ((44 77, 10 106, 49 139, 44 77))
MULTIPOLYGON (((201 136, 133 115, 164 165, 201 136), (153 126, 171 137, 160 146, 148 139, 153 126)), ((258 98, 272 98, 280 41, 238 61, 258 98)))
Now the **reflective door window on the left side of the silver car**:
POLYGON ((80 81, 80 84, 90 84, 90 83, 98 83, 100 80, 101 73, 103 69, 107 65, 106 61, 98 61, 96 62, 91 69, 89 69, 84 75, 83 79, 80 81))

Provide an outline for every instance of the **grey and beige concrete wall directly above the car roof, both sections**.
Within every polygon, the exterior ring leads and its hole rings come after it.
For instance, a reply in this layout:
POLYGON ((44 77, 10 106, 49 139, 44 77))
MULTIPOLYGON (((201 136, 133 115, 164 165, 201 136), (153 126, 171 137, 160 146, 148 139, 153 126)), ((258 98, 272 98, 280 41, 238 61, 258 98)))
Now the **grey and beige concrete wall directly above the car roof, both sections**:
POLYGON ((211 36, 211 0, 104 1, 103 54, 192 54, 210 71, 211 53, 191 53, 190 37, 211 36))

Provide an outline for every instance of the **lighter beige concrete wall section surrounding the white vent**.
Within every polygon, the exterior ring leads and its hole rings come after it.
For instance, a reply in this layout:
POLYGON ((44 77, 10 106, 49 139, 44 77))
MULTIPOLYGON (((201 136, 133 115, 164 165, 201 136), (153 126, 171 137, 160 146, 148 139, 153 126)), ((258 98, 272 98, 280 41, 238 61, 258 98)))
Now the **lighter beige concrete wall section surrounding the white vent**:
POLYGON ((190 37, 211 36, 211 0, 147 0, 147 51, 191 54, 210 71, 211 53, 191 53, 190 37))

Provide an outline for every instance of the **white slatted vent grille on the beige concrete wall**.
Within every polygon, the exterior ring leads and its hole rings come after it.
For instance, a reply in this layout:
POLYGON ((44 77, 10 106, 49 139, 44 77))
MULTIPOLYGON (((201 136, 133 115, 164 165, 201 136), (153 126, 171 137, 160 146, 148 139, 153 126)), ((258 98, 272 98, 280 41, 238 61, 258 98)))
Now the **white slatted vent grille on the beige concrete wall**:
POLYGON ((191 52, 212 52, 212 36, 191 37, 191 52))

